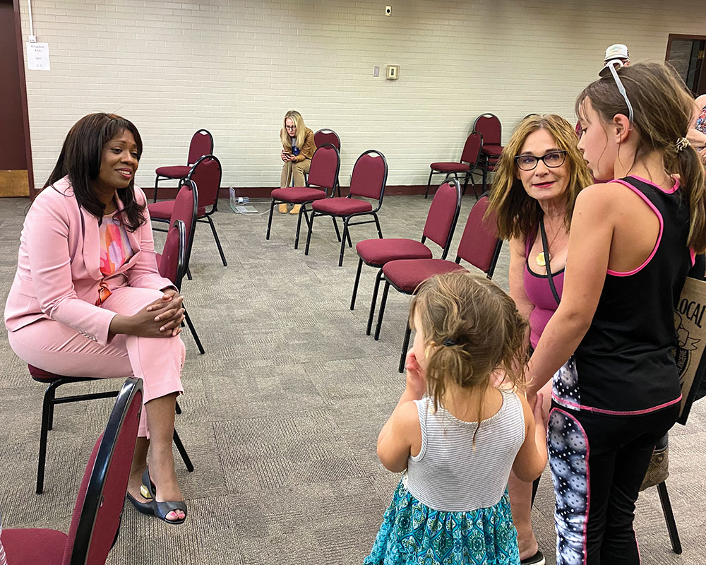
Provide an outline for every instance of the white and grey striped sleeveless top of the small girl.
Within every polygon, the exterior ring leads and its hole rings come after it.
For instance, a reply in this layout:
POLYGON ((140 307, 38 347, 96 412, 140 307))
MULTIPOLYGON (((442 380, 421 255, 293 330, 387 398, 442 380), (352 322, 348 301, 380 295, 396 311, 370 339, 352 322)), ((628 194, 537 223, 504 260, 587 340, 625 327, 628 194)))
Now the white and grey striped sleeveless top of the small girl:
POLYGON ((498 504, 517 451, 525 441, 525 414, 513 391, 501 391, 503 405, 482 420, 462 422, 429 396, 414 400, 421 424, 421 449, 407 460, 407 489, 429 508, 468 512, 498 504))

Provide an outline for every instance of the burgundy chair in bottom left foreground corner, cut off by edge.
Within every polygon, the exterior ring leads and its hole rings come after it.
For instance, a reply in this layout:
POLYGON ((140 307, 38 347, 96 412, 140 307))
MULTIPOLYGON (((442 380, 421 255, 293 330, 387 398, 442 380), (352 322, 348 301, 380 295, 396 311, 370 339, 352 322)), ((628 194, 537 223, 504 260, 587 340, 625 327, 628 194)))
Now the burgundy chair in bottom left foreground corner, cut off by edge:
POLYGON ((120 528, 142 410, 142 379, 116 393, 103 434, 88 459, 68 535, 48 528, 3 530, 10 565, 103 565, 120 528))

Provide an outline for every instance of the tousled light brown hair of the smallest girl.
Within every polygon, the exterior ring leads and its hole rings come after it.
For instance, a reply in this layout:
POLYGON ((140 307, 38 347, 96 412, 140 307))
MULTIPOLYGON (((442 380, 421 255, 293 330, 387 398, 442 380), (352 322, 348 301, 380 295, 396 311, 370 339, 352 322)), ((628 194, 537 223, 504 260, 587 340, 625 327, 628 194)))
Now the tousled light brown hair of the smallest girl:
POLYGON ((498 369, 525 388, 528 323, 513 299, 491 280, 465 272, 433 276, 412 298, 410 323, 417 313, 428 352, 426 387, 434 408, 438 410, 449 383, 485 390, 498 369))

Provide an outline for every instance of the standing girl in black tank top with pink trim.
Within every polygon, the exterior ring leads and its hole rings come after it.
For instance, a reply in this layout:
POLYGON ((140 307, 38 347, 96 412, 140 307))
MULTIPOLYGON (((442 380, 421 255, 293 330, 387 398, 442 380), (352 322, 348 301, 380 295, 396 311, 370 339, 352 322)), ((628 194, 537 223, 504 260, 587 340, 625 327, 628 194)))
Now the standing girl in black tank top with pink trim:
POLYGON ((693 98, 664 64, 616 67, 578 97, 578 147, 608 182, 576 198, 561 304, 527 368, 530 397, 554 377, 558 565, 640 562, 635 501, 681 400, 674 306, 706 249, 693 98))

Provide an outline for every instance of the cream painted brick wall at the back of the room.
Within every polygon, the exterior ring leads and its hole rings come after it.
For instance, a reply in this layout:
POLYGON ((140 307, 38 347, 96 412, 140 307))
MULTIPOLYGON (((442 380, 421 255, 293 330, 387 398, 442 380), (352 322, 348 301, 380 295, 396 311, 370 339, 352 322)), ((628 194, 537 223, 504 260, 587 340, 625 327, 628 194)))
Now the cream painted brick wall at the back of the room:
MULTIPOLYGON (((22 0, 23 42, 27 12, 22 0)), ((185 162, 201 127, 224 186, 276 186, 287 109, 340 134, 342 179, 375 148, 389 184, 426 184, 477 115, 498 115, 505 140, 530 112, 573 121, 606 46, 664 59, 669 33, 706 29, 702 0, 33 0, 32 13, 52 66, 25 71, 38 185, 69 127, 106 111, 140 129, 143 186, 185 162), (385 80, 388 64, 398 81, 385 80)))

